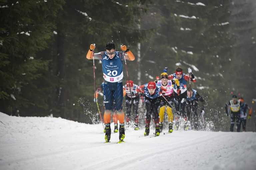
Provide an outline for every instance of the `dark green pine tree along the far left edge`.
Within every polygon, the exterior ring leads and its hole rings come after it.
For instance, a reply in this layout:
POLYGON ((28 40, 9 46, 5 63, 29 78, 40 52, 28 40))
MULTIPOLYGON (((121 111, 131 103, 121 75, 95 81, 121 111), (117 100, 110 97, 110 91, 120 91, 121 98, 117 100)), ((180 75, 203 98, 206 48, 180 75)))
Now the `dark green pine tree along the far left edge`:
MULTIPOLYGON (((0 28, 0 110, 7 114, 19 114, 19 109, 42 104, 45 96, 26 93, 35 88, 35 80, 47 70, 49 61, 36 57, 47 46, 53 35, 54 16, 62 1, 1 1, 0 28), (31 90, 31 89, 30 89, 31 90)), ((35 88, 36 89, 36 88, 35 88)))

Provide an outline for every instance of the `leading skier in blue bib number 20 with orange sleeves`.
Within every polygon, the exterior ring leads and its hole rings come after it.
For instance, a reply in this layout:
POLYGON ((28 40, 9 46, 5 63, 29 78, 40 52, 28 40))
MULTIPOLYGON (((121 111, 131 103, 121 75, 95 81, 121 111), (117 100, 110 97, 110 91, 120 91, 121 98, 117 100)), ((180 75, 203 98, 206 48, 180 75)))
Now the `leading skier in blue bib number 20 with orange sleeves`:
POLYGON ((90 45, 90 49, 86 55, 87 59, 98 59, 102 62, 102 71, 104 80, 103 97, 105 104, 104 123, 106 124, 105 140, 109 142, 111 136, 110 129, 110 112, 112 99, 114 98, 116 103, 116 110, 119 120, 119 141, 122 142, 124 133, 124 112, 123 112, 123 61, 134 60, 134 55, 125 46, 121 45, 121 49, 125 51, 116 51, 114 42, 108 42, 106 44, 106 51, 94 53, 95 44, 90 45))

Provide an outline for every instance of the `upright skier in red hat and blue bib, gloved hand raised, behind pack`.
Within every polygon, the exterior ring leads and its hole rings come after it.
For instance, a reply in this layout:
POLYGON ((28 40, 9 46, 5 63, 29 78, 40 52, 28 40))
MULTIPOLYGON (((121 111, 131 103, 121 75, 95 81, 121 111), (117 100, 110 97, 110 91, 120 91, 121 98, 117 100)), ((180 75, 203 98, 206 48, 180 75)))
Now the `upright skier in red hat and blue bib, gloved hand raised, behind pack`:
POLYGON ((188 127, 186 126, 187 118, 185 114, 185 103, 187 99, 187 81, 191 82, 196 82, 196 78, 194 74, 192 73, 192 70, 189 68, 188 72, 190 73, 191 77, 189 75, 186 75, 182 72, 181 68, 177 68, 176 72, 169 75, 168 79, 173 80, 173 79, 178 79, 180 85, 174 85, 173 86, 173 91, 174 91, 174 104, 175 104, 175 110, 177 111, 177 115, 175 116, 176 123, 175 123, 175 128, 179 128, 179 117, 183 117, 185 120, 185 126, 184 129, 187 129, 188 127))

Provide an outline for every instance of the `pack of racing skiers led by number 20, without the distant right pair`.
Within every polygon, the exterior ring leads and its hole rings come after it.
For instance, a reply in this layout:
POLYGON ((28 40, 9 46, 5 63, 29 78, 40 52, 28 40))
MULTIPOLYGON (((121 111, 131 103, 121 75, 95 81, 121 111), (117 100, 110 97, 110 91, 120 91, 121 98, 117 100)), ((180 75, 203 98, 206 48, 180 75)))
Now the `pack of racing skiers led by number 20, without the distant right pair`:
MULTIPOLYGON (((103 90, 104 99, 104 124, 105 124, 105 140, 110 141, 111 137, 111 112, 113 114, 114 132, 118 132, 117 120, 119 120, 119 142, 123 142, 125 137, 125 122, 123 112, 123 97, 127 107, 126 123, 129 125, 131 106, 135 117, 135 130, 138 130, 138 105, 140 97, 145 102, 145 133, 149 135, 149 125, 151 122, 151 114, 155 124, 155 136, 160 135, 163 130, 163 118, 165 108, 168 114, 169 130, 173 132, 173 120, 175 117, 175 128, 178 129, 181 120, 185 121, 184 129, 189 127, 189 121, 193 115, 194 128, 198 129, 197 106, 198 101, 202 102, 201 113, 204 114, 204 100, 196 90, 187 88, 187 81, 196 82, 192 70, 189 68, 189 75, 183 73, 181 68, 177 68, 176 72, 168 75, 167 67, 161 74, 161 80, 150 81, 149 83, 138 86, 133 81, 127 81, 123 86, 123 61, 134 60, 133 53, 125 46, 121 45, 122 51, 116 51, 115 43, 108 42, 105 51, 94 53, 95 44, 90 45, 90 49, 86 55, 88 59, 98 59, 102 62, 104 82, 95 92, 95 102, 97 102, 98 93, 103 90), (173 103, 175 105, 175 116, 172 113, 173 103), (158 108, 160 112, 158 113, 158 108), (187 112, 185 112, 185 107, 187 112)), ((127 67, 127 65, 126 65, 127 67)), ((127 72, 128 76, 128 72, 127 72)), ((129 79, 129 77, 128 77, 129 79)))

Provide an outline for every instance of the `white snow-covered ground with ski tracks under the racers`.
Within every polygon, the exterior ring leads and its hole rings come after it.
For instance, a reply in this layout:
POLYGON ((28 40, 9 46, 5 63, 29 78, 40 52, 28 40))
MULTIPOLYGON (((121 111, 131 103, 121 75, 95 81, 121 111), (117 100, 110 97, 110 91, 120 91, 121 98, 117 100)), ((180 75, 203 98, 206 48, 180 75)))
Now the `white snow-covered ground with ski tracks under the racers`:
MULTIPOLYGON (((126 128, 104 143, 102 124, 52 117, 13 117, 0 113, 0 170, 255 170, 255 132, 183 131, 126 128)), ((111 124, 113 131, 114 125, 111 124)))

